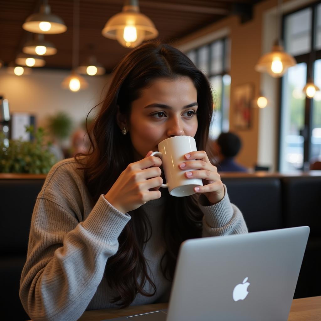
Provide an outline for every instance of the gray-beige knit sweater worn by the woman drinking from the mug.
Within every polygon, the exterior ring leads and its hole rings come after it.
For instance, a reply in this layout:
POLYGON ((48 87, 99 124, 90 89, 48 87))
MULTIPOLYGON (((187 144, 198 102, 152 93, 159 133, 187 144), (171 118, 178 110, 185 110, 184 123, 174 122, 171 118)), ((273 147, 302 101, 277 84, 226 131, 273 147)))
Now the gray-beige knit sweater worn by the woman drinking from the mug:
MULTIPOLYGON (((116 307, 109 301, 117 293, 103 274, 108 257, 117 252, 117 239, 130 216, 117 211, 104 195, 93 204, 78 167, 74 159, 57 163, 34 207, 20 283, 22 305, 34 321, 77 320, 86 309, 116 307)), ((230 203, 224 188, 225 196, 217 204, 206 204, 204 195, 199 198, 204 213, 203 236, 247 233, 241 212, 230 203)), ((164 201, 161 197, 142 207, 152 227, 144 256, 157 291, 152 297, 137 294, 132 305, 168 299, 171 284, 160 269, 165 251, 161 233, 164 201)), ((148 289, 146 284, 144 290, 148 289)))

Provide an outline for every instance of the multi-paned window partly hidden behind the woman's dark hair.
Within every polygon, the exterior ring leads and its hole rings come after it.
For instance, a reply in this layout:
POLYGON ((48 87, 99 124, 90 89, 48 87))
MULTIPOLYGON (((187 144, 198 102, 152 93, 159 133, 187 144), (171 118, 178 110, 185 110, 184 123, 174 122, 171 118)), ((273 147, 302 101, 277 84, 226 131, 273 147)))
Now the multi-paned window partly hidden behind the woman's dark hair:
POLYGON ((212 85, 214 113, 209 135, 211 139, 215 139, 222 131, 229 130, 230 40, 215 40, 188 51, 187 56, 206 74, 212 85))

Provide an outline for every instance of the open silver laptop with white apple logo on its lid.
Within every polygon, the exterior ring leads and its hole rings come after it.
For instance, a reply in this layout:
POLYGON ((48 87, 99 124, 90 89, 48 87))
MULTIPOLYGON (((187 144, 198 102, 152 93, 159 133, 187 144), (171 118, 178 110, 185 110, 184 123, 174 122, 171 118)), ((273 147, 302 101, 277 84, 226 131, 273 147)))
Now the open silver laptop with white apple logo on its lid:
POLYGON ((182 243, 169 308, 117 321, 286 321, 308 226, 182 243))

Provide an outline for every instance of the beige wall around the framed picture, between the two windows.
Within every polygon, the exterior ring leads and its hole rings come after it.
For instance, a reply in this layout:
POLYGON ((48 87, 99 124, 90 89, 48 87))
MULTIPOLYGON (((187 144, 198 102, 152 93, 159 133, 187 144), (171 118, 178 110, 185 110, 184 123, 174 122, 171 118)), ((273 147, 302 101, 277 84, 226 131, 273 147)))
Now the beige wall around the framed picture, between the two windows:
MULTIPOLYGON (((309 0, 284 1, 283 12, 294 10, 300 6, 312 2, 309 0)), ((276 168, 277 162, 277 123, 278 123, 278 86, 276 81, 270 76, 266 79, 254 70, 260 56, 269 51, 275 39, 277 0, 267 0, 254 6, 253 19, 246 23, 241 23, 238 16, 231 16, 211 26, 199 30, 183 39, 179 39, 175 45, 188 50, 202 44, 213 41, 228 35, 231 40, 231 97, 230 97, 230 131, 236 132, 243 141, 243 148, 237 160, 247 166, 253 167, 258 162, 262 165, 276 168), (273 19, 266 21, 266 15, 272 15, 273 19), (274 23, 273 23, 274 22, 274 23), (222 32, 224 30, 224 32, 222 32), (211 37, 211 34, 213 35, 211 37), (271 37, 262 35, 272 34, 271 37), (194 45, 195 44, 195 45, 194 45), (252 124, 248 130, 237 130, 233 122, 235 87, 252 83, 254 85, 254 95, 270 95, 271 104, 266 110, 252 108, 252 124), (265 93, 265 85, 267 93, 265 93), (272 89, 272 92, 271 92, 272 89), (261 114, 261 115, 260 115, 261 114), (261 126, 264 123, 265 126, 261 126), (259 126, 260 124, 260 126, 259 126), (264 130, 264 131, 263 131, 264 130), (259 144, 260 141, 260 144, 259 144), (266 152, 267 151, 267 152, 266 152)))

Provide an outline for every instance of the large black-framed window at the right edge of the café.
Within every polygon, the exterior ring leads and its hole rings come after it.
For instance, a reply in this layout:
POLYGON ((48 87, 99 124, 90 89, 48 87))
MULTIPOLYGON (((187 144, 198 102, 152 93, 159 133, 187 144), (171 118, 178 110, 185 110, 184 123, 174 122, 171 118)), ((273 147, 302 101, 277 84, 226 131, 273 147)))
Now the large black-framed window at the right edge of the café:
POLYGON ((306 98, 309 78, 321 88, 321 4, 283 16, 285 50, 297 65, 282 78, 279 170, 308 169, 321 157, 321 92, 306 98))

